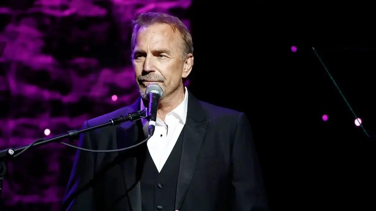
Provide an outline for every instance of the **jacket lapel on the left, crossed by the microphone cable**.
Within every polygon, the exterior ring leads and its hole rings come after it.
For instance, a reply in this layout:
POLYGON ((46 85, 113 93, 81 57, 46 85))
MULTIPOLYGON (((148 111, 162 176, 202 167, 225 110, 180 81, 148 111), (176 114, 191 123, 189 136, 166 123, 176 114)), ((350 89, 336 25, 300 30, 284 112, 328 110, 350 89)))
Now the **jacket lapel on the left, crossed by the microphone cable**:
MULTIPOLYGON (((130 112, 138 110, 140 99, 130 106, 130 112)), ((123 115, 127 115, 125 113, 123 115)), ((141 141, 144 136, 140 133, 142 130, 140 121, 123 122, 116 128, 116 140, 118 148, 125 148, 134 145, 141 141)), ((142 172, 142 156, 144 155, 143 146, 135 149, 119 152, 119 159, 121 160, 121 172, 123 173, 124 185, 127 190, 129 204, 132 211, 141 211, 141 187, 140 178, 142 172), (141 169, 141 170, 140 170, 141 169)))

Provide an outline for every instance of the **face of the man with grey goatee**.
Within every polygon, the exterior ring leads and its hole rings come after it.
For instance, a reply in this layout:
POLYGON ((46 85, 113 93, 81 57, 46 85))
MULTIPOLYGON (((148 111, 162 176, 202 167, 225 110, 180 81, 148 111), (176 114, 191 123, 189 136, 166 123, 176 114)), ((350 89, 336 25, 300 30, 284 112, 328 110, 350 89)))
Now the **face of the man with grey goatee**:
POLYGON ((168 96, 188 76, 182 59, 181 36, 168 24, 153 24, 138 31, 133 50, 133 68, 141 96, 149 84, 158 84, 168 96))

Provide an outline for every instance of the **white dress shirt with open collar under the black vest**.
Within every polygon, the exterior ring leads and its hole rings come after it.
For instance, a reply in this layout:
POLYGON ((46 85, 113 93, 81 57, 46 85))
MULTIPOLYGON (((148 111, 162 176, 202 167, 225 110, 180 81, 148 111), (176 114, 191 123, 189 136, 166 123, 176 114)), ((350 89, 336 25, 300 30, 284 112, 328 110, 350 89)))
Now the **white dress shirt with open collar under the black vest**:
MULTIPOLYGON (((177 139, 184 127, 188 108, 188 91, 185 87, 184 100, 165 117, 165 122, 156 119, 155 131, 153 136, 147 142, 147 148, 154 161, 158 172, 161 172, 168 156, 175 146, 177 139)), ((144 102, 141 100, 141 110, 145 109, 144 102)), ((149 136, 149 122, 142 119, 145 136, 149 136)))

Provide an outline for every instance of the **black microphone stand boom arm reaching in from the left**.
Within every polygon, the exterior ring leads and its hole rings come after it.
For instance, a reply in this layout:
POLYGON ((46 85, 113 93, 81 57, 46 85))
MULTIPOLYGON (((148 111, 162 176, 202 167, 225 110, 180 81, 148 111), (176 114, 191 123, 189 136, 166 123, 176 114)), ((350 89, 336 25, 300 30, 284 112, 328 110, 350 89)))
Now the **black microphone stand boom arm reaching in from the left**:
MULTIPOLYGON (((81 129, 81 130, 71 130, 71 131, 68 131, 67 133, 64 133, 64 134, 61 134, 61 135, 58 135, 49 139, 40 139, 36 141, 32 146, 43 146, 52 142, 58 142, 59 140, 62 140, 65 138, 69 138, 71 142, 74 142, 74 140, 76 140, 78 135, 81 133, 86 133, 88 131, 106 127, 106 126, 118 125, 126 121, 136 121, 141 118, 146 118, 145 115, 146 115, 146 109, 142 111, 129 113, 128 116, 126 117, 120 116, 120 118, 110 119, 109 122, 106 122, 103 124, 94 125, 92 127, 88 127, 88 128, 81 129)), ((20 146, 17 148, 8 148, 8 149, 0 150, 0 211, 3 210, 2 208, 4 206, 3 200, 1 198, 1 193, 2 193, 2 188, 3 188, 3 179, 6 173, 6 161, 8 159, 13 158, 15 155, 22 152, 24 149, 28 147, 31 148, 29 145, 24 145, 24 146, 20 146)))

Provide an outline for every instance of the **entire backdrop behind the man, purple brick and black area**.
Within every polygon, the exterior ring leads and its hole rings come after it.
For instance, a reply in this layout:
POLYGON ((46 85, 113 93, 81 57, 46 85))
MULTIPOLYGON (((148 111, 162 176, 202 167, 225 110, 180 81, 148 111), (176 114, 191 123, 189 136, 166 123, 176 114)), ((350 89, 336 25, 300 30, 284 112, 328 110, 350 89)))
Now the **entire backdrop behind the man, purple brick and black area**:
MULTIPOLYGON (((355 126, 312 51, 365 130, 376 134, 376 45, 367 5, 16 2, 0 3, 0 41, 7 42, 0 58, 1 148, 44 137, 45 128, 50 136, 80 128, 131 104, 138 92, 130 20, 141 11, 167 12, 193 34, 188 88, 201 100, 247 113, 271 210, 375 207, 374 138, 355 126)), ((2 194, 7 208, 58 210, 74 152, 52 144, 10 161, 2 194)))

